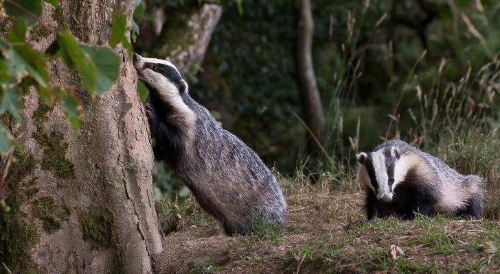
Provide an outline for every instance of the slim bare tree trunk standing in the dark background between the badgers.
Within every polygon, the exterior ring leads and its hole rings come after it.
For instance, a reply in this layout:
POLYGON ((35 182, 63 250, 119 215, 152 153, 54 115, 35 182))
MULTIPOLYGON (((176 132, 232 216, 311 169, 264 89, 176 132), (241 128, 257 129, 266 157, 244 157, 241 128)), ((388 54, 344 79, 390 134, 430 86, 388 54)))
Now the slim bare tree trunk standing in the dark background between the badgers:
POLYGON ((323 105, 316 83, 314 66, 312 65, 312 34, 314 33, 314 22, 309 0, 300 0, 297 7, 297 44, 295 45, 295 69, 297 72, 297 83, 299 84, 302 109, 306 125, 311 130, 312 138, 308 142, 310 153, 319 151, 317 141, 323 145, 326 140, 325 118, 323 116, 323 105), (317 140, 314 140, 316 138, 317 140))

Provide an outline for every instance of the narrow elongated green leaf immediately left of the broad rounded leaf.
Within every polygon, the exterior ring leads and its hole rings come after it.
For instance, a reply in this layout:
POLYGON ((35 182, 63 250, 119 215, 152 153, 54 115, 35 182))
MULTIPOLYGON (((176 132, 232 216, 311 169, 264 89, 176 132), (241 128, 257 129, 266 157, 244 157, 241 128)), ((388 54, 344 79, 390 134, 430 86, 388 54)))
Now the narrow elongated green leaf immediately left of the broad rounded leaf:
MULTIPOLYGON (((65 60, 68 66, 78 71, 85 88, 87 88, 87 92, 92 95, 95 90, 96 77, 98 75, 94 64, 87 58, 82 47, 78 45, 78 42, 76 42, 68 29, 64 29, 60 32, 58 44, 58 55, 65 60)), ((104 57, 104 59, 107 58, 107 56, 104 57)))

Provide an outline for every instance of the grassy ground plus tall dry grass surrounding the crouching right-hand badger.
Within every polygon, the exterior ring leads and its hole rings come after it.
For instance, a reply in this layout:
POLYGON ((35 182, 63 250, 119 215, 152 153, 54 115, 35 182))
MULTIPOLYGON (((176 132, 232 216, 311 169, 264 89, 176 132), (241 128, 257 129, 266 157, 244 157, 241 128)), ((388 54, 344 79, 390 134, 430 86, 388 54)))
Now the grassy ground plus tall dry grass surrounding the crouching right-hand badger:
MULTIPOLYGON (((484 178, 485 219, 417 216, 413 221, 394 217, 366 221, 363 193, 349 160, 341 161, 343 167, 332 169, 335 172, 320 171, 312 176, 304 172, 306 164, 301 164, 293 175, 274 171, 288 203, 286 227, 258 222, 251 234, 225 237, 218 223, 204 214, 192 197, 162 201, 158 211, 163 230, 179 231, 168 237, 165 252, 177 252, 185 242, 183 234, 202 234, 212 244, 201 249, 218 251, 214 256, 225 254, 228 259, 223 264, 196 262, 196 273, 497 272, 500 133, 495 121, 500 104, 498 90, 484 83, 494 81, 497 74, 492 71, 499 68, 497 56, 476 75, 468 71, 459 82, 444 85, 440 83, 440 67, 430 90, 416 87, 420 106, 409 112, 413 125, 402 134, 401 115, 396 111, 391 114, 395 123, 385 136, 409 140, 459 173, 484 178), (311 184, 312 177, 315 184, 311 184), (193 225, 198 234, 192 232, 193 225)), ((352 151, 356 151, 358 138, 350 139, 352 151)), ((190 260, 196 258, 185 258, 190 260)))

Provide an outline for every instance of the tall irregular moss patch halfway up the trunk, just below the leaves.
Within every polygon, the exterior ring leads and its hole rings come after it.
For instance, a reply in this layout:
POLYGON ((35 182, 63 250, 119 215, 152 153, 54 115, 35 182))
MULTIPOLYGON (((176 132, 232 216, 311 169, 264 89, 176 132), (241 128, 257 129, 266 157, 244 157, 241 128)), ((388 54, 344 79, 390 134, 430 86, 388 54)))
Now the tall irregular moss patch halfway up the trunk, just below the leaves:
POLYGON ((43 158, 41 168, 44 171, 52 171, 57 177, 62 179, 74 179, 75 168, 66 158, 66 150, 68 145, 62 142, 64 138, 62 134, 52 132, 47 135, 44 130, 45 122, 47 122, 47 112, 50 108, 47 105, 40 104, 33 112, 33 122, 37 127, 33 138, 43 148, 43 158))

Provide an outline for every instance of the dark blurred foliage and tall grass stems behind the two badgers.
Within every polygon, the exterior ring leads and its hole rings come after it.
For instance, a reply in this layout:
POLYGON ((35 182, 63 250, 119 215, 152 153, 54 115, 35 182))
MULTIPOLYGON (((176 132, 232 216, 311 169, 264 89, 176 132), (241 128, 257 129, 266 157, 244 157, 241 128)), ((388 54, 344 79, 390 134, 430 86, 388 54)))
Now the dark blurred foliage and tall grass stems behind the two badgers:
MULTIPOLYGON (((355 151, 388 138, 439 155, 437 147, 471 132, 495 132, 500 114, 497 1, 312 2, 312 54, 329 154, 312 173, 348 172, 355 151)), ((152 9, 198 4, 170 1, 152 9)), ((295 6, 280 0, 241 4, 239 12, 238 3, 223 1, 201 72, 185 77, 192 97, 225 128, 269 166, 294 173, 308 160, 304 148, 310 138, 294 114, 302 116, 293 62, 295 6)), ((180 182, 166 183, 172 179, 157 182, 168 192, 172 185, 181 188, 180 182)))

